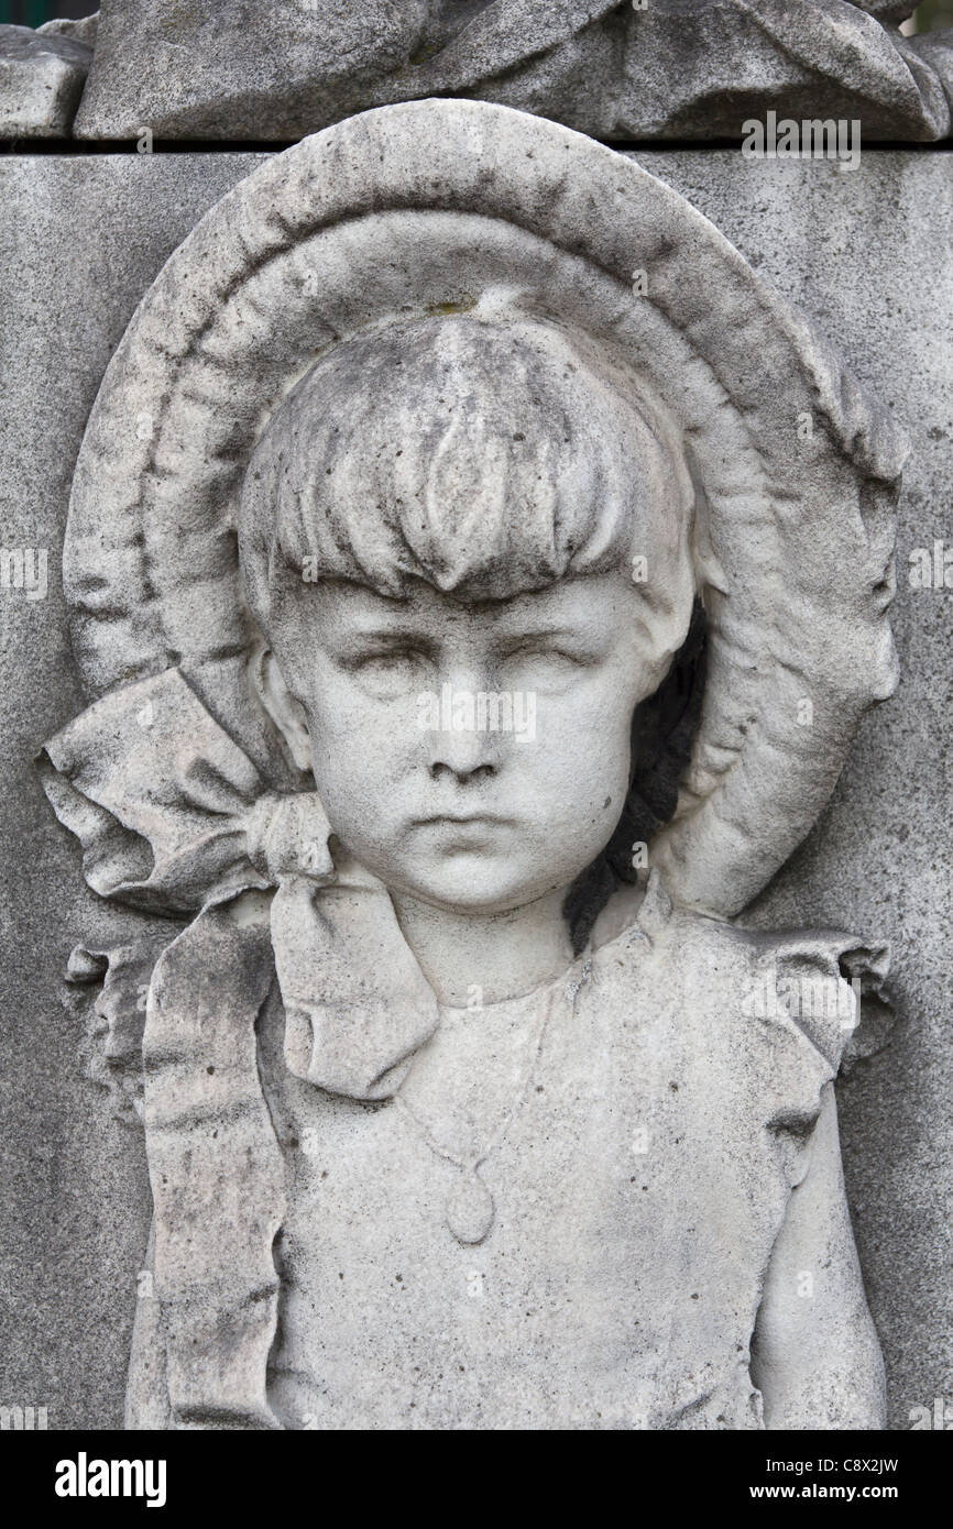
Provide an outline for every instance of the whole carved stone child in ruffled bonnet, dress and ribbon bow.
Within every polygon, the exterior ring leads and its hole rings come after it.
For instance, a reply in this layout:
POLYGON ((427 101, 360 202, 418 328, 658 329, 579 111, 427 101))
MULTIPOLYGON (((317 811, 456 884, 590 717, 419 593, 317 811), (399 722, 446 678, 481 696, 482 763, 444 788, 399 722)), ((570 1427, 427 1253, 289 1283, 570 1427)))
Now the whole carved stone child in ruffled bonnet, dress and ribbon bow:
POLYGON ((688 202, 525 113, 353 118, 177 249, 40 761, 90 887, 190 920, 130 1427, 881 1427, 832 1079, 886 953, 733 916, 893 688, 904 451, 688 202))

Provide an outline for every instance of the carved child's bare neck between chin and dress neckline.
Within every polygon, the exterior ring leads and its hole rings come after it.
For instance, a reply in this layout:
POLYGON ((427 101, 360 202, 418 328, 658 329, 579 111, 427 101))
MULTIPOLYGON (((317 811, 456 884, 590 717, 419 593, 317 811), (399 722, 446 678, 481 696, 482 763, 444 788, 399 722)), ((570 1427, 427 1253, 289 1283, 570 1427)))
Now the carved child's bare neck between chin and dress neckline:
POLYGON ((473 1008, 517 998, 572 963, 563 890, 508 913, 456 913, 393 893, 398 922, 441 1003, 473 1008))

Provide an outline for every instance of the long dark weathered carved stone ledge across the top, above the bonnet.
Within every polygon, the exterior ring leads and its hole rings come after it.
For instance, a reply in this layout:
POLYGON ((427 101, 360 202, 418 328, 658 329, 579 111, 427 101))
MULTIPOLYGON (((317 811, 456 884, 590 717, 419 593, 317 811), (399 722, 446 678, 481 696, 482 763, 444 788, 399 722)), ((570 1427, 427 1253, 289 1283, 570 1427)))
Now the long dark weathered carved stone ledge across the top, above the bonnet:
POLYGON ((597 138, 739 138, 746 118, 950 131, 948 34, 877 0, 106 0, 80 138, 294 141, 390 101, 499 101, 597 138), (150 67, 144 69, 142 61, 150 67))

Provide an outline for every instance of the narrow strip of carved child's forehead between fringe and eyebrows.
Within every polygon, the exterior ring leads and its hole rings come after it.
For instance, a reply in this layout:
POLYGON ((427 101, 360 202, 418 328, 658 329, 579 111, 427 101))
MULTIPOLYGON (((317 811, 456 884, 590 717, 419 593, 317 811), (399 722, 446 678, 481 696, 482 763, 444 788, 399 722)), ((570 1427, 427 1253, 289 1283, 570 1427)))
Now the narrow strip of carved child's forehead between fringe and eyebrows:
POLYGON ((416 578, 407 581, 407 593, 399 598, 352 579, 321 579, 307 587, 304 598, 314 599, 324 622, 340 630, 436 635, 457 628, 508 633, 610 622, 636 595, 624 572, 613 570, 569 576, 509 599, 463 598, 416 578))

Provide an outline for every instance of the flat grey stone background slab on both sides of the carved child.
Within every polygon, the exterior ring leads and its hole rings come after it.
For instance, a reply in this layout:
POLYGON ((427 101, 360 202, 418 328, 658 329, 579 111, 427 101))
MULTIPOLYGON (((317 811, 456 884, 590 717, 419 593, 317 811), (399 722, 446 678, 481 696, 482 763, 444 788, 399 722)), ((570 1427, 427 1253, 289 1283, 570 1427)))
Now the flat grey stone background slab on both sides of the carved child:
MULTIPOLYGON (((83 890, 78 847, 32 768, 83 705, 60 584, 69 485, 136 303, 202 213, 262 157, 0 159, 0 541, 49 549, 46 601, 0 593, 0 1404, 47 1405, 50 1428, 121 1425, 148 1228, 139 1133, 83 1076, 83 1024, 61 980, 75 943, 127 940, 148 925, 83 890)), ((907 581, 912 547, 953 544, 953 156, 864 151, 855 171, 745 162, 730 150, 638 157, 817 320, 913 443, 898 538, 901 690, 867 720, 821 823, 750 914, 766 927, 838 925, 893 948, 893 1041, 855 1067, 840 1104, 890 1425, 906 1428, 912 1407, 953 1398, 953 590, 907 581)))

